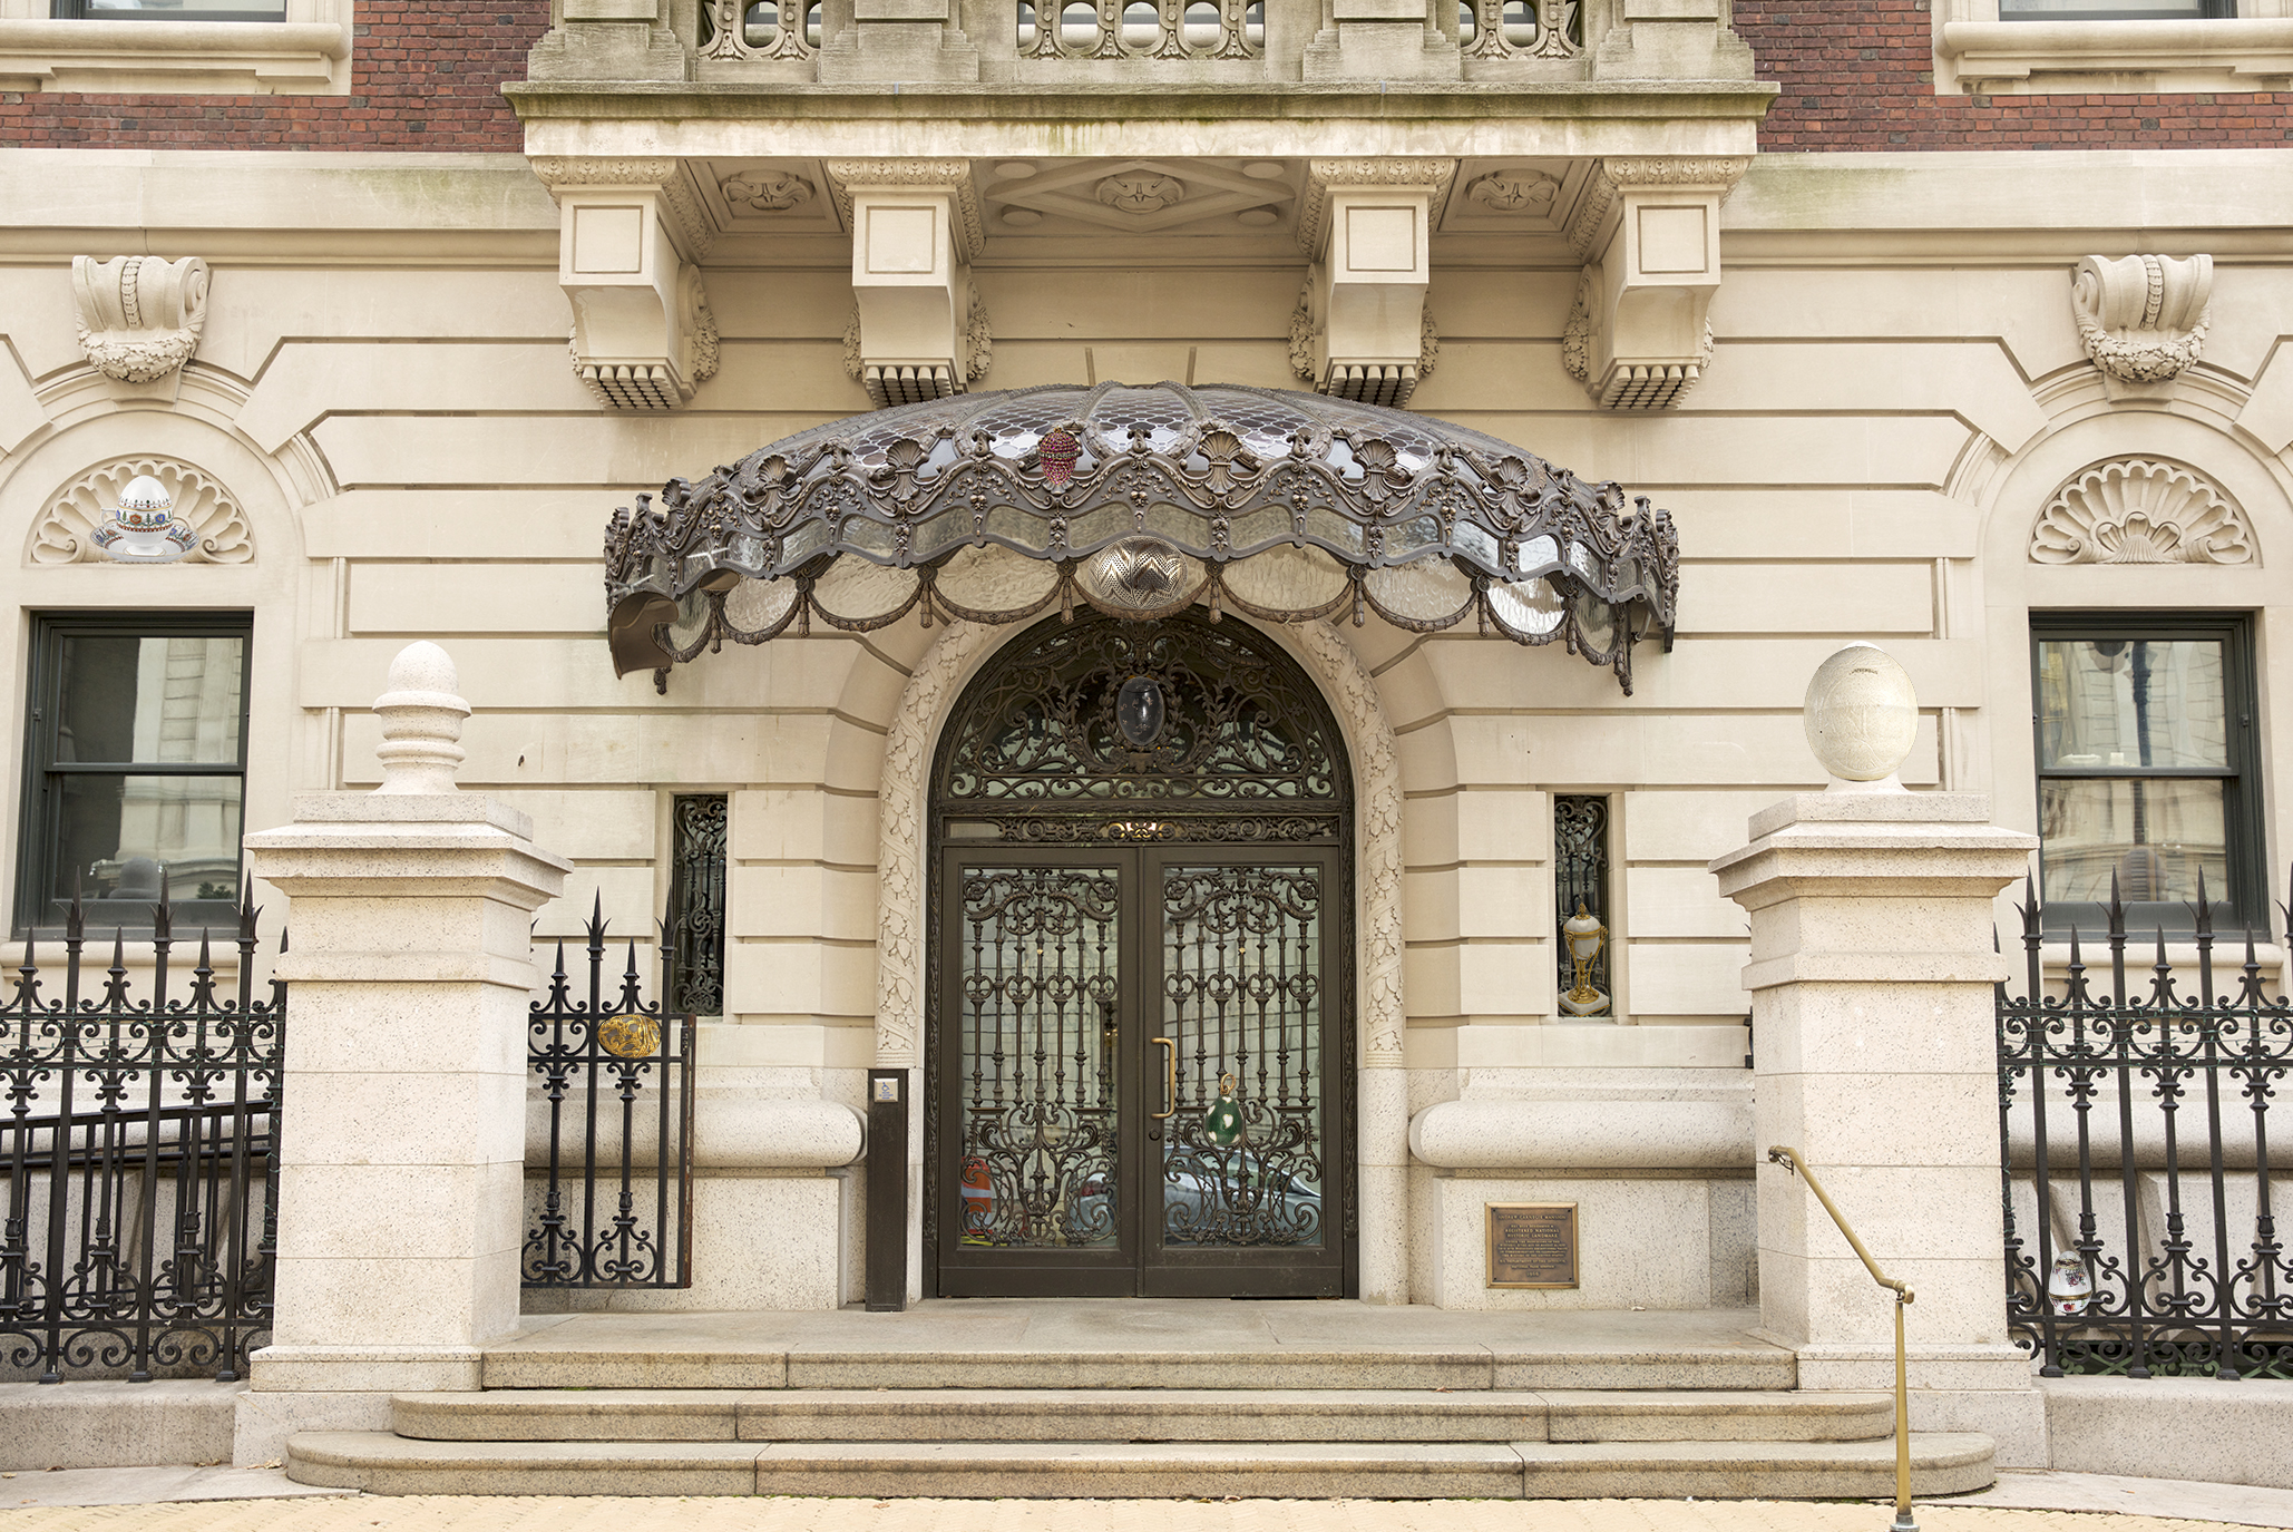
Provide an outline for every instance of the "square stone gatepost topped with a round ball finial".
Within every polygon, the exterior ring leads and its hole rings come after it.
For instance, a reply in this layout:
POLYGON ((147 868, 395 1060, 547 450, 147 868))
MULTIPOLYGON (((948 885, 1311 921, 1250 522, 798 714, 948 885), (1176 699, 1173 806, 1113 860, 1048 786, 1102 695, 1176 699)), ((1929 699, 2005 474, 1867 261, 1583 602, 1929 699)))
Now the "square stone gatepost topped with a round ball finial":
POLYGON ((1772 1144, 1798 1149, 1908 1282, 1912 1424, 1988 1431, 2045 1465, 2045 1410, 2006 1335, 1993 906, 2036 837, 1974 794, 1894 780, 1919 713, 1901 665, 1855 644, 1816 672, 1807 736, 1834 782, 1752 816, 1717 858, 1752 917, 1759 1307, 1800 1388, 1889 1390, 1892 1296, 1772 1144))

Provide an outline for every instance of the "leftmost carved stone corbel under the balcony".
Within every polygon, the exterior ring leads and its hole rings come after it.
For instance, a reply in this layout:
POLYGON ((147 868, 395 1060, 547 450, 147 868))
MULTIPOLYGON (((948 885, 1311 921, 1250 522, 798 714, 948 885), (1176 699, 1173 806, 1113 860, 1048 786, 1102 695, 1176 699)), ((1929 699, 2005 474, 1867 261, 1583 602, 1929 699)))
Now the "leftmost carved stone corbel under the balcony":
POLYGON ((699 259, 715 227, 672 158, 539 158, 557 197, 573 374, 598 404, 674 411, 718 369, 699 259))

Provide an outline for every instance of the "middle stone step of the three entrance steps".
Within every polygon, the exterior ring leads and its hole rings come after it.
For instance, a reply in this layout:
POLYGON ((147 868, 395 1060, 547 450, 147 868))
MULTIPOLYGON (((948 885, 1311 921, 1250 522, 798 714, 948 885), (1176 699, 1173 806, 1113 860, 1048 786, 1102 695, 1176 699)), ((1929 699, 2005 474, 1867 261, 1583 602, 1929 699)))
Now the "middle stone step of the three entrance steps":
POLYGON ((491 1390, 397 1394, 390 1429, 482 1443, 1876 1440, 1887 1394, 1658 1390, 491 1390))

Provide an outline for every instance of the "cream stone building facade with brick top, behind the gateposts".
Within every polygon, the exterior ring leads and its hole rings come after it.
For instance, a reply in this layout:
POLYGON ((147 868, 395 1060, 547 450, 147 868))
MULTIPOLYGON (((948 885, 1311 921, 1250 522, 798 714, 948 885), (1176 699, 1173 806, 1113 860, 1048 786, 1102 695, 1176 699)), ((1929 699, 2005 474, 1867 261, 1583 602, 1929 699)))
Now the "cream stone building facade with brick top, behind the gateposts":
POLYGON ((704 1021, 617 1305, 858 1303, 894 1071, 910 1298, 1740 1307, 1706 865, 1839 647, 2050 922, 2282 968, 2288 76, 2279 0, 5 0, 14 933, 277 924, 241 835, 436 640, 543 961, 667 920, 704 1021), (1630 1236, 1497 1287, 1490 1202, 1630 1236))

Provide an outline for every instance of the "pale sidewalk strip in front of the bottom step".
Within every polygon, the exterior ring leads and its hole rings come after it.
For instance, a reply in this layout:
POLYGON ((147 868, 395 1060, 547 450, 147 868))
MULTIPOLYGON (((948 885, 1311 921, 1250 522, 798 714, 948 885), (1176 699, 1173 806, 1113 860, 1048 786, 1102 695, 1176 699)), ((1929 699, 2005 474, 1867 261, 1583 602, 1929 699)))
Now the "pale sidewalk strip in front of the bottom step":
MULTIPOLYGON (((1779 1500, 626 1500, 358 1495, 259 1468, 0 1477, 0 1532, 1885 1532, 1878 1502, 1779 1500)), ((1922 1532, 2293 1527, 2293 1491, 2009 1472, 1922 1532), (2096 1511, 2112 1514, 2096 1523, 2096 1511)))

